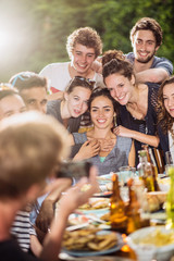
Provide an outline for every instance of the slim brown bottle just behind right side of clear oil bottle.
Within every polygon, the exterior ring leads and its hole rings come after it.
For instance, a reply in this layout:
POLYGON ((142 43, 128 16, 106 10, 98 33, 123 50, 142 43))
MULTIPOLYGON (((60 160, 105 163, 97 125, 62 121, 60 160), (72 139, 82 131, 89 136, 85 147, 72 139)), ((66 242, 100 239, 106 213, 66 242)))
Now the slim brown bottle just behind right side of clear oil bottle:
POLYGON ((154 161, 152 162, 152 151, 149 149, 148 145, 142 145, 142 148, 147 151, 147 160, 151 164, 151 167, 152 167, 154 191, 160 191, 161 189, 160 189, 158 181, 157 181, 158 167, 157 167, 157 164, 153 164, 154 161))

